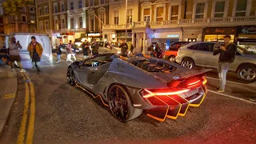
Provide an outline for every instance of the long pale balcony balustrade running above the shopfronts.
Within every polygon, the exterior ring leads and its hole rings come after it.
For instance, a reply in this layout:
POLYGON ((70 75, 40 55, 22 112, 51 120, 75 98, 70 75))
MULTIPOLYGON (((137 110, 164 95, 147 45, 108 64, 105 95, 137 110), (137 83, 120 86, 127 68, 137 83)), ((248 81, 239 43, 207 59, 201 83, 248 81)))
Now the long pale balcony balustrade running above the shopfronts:
MULTIPOLYGON (((239 26, 255 25, 256 16, 250 17, 228 17, 228 18, 197 18, 197 19, 180 19, 163 22, 133 22, 128 24, 127 29, 150 27, 171 28, 171 27, 191 27, 191 26, 239 26)), ((105 25, 103 30, 125 30, 126 25, 105 25)))

